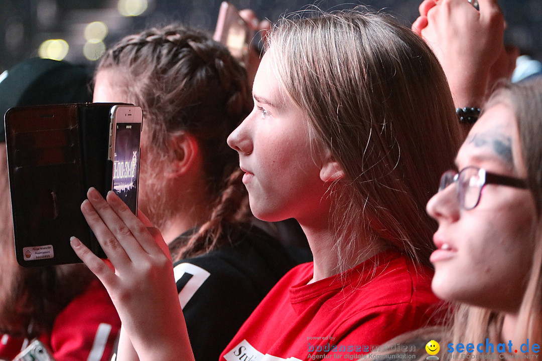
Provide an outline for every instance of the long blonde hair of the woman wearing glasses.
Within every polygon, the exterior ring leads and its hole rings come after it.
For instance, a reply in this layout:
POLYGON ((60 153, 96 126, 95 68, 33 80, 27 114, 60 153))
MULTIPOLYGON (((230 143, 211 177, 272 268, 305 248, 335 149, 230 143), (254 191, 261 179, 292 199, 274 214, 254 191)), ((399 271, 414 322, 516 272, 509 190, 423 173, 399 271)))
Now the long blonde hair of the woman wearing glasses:
MULTIPOLYGON (((538 226, 533 230, 534 253, 531 274, 522 298, 518 330, 515 337, 529 339, 530 343, 542 343, 542 79, 521 84, 501 84, 485 104, 489 109, 496 104, 511 108, 518 124, 522 159, 527 169, 527 185, 534 197, 537 209, 538 226)), ((483 307, 458 305, 453 327, 450 330, 451 342, 462 340, 478 343, 489 338, 499 343, 504 321, 504 313, 483 307)))

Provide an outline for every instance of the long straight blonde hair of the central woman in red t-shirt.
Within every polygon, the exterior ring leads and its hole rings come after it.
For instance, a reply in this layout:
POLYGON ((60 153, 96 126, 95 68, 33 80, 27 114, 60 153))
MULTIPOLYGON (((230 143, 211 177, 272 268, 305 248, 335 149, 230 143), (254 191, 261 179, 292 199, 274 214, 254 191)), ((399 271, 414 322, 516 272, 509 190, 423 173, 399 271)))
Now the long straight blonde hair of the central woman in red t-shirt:
POLYGON ((358 10, 282 19, 268 48, 314 144, 345 171, 331 189, 339 259, 384 241, 429 264, 436 224, 425 204, 461 137, 437 58, 410 29, 358 10))

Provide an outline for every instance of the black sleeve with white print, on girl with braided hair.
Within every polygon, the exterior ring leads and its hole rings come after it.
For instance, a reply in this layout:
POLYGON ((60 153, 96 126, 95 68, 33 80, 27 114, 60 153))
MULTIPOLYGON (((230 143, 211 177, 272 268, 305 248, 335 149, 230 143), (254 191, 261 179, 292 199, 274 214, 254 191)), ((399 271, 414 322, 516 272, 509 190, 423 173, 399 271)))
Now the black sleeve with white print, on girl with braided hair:
POLYGON ((179 299, 196 361, 218 360, 263 298, 246 275, 220 257, 205 256, 175 267, 179 299))

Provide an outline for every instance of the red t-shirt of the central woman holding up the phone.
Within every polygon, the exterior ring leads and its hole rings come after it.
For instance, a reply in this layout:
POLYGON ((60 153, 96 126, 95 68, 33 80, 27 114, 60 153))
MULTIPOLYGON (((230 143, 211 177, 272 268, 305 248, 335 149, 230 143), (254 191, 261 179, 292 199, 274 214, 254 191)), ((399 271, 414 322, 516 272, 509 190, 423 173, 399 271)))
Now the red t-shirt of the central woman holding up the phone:
POLYGON ((352 359, 370 352, 371 346, 436 321, 441 302, 431 292, 432 274, 395 251, 312 284, 307 283, 313 264, 297 266, 262 300, 221 361, 264 355, 307 360, 327 353, 352 359))

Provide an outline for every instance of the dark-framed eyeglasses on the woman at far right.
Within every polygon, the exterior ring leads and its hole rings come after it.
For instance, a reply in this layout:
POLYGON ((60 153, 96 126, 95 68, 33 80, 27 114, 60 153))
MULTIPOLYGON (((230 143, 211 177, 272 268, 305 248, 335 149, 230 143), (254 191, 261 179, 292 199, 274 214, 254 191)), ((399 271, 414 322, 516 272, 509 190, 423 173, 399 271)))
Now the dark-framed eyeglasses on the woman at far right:
POLYGON ((514 188, 527 188, 527 183, 519 178, 487 172, 479 167, 465 167, 457 173, 447 170, 441 176, 438 192, 443 191, 451 183, 457 183, 457 201, 463 209, 473 209, 480 202, 482 188, 486 184, 498 184, 514 188))

